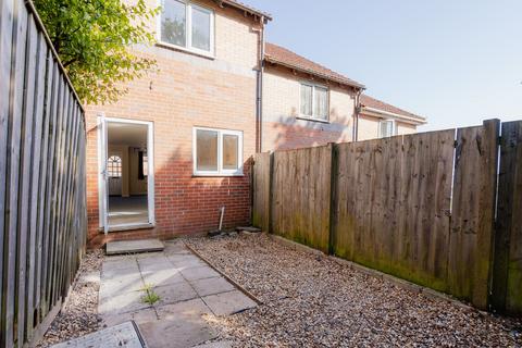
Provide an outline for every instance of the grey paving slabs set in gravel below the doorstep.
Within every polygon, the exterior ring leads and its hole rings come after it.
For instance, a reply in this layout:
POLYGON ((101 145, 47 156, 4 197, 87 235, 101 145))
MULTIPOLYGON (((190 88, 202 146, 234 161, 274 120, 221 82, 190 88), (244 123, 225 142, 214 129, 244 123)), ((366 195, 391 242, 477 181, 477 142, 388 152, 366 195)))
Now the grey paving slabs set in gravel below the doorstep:
POLYGON ((134 320, 151 348, 228 347, 225 341, 204 345, 219 338, 209 321, 256 306, 181 241, 165 243, 163 252, 103 261, 98 304, 102 326, 134 320), (146 285, 160 297, 154 304, 144 302, 146 285))

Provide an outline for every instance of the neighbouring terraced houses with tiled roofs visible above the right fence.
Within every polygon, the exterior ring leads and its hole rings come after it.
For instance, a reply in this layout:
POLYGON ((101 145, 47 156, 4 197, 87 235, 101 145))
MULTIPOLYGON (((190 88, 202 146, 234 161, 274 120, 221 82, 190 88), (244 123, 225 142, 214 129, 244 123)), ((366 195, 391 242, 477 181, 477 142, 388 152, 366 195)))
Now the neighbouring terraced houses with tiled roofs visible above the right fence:
POLYGON ((364 86, 265 44, 262 151, 414 133, 424 117, 362 94, 364 86))

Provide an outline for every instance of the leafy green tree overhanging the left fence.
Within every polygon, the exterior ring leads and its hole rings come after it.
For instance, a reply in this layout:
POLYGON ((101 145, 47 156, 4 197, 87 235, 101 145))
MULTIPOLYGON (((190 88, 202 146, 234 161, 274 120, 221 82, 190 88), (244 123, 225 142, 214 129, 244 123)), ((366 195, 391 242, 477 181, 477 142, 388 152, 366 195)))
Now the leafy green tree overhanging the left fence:
POLYGON ((132 45, 156 41, 149 26, 159 8, 144 0, 35 0, 52 45, 79 98, 87 103, 115 101, 124 83, 140 77, 156 61, 134 54, 132 45))

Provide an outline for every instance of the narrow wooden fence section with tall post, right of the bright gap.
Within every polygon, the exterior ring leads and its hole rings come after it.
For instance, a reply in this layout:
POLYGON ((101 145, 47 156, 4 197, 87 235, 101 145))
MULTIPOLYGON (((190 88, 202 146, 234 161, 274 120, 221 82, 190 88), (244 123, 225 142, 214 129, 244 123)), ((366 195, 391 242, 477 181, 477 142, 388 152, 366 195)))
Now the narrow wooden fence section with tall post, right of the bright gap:
POLYGON ((448 284, 482 309, 492 272, 498 135, 498 121, 457 129, 448 284))

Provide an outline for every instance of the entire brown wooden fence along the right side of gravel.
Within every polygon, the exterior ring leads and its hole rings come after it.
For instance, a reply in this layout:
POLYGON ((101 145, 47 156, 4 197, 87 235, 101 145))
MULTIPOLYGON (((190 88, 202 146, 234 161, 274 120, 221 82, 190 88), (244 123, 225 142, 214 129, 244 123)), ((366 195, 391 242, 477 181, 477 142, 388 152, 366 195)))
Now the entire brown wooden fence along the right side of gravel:
POLYGON ((478 308, 522 313, 522 122, 502 125, 500 145, 499 127, 258 153, 252 223, 478 308))

